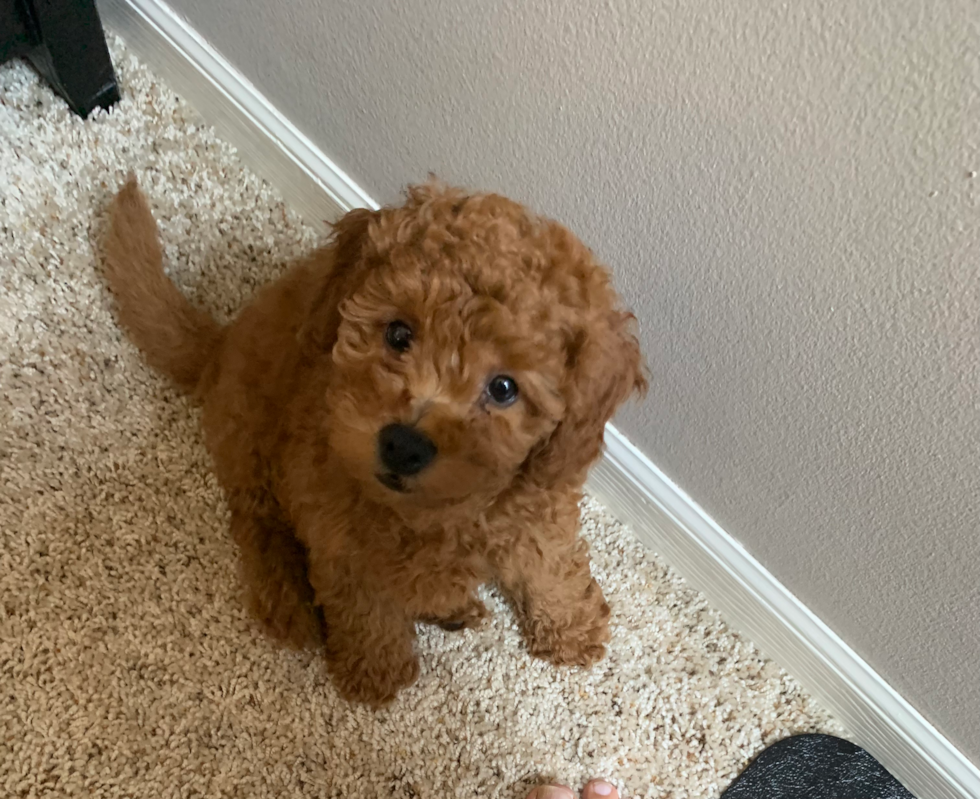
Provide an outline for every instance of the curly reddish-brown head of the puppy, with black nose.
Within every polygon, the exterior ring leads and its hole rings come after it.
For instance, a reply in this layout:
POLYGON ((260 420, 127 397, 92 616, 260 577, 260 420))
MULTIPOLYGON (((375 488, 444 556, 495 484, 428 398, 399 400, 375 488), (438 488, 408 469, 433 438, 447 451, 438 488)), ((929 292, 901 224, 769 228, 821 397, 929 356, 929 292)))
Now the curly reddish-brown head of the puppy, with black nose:
POLYGON ((581 484, 645 388, 632 317, 565 228, 429 183, 337 223, 305 343, 331 358, 331 448, 403 516, 517 481, 581 484))

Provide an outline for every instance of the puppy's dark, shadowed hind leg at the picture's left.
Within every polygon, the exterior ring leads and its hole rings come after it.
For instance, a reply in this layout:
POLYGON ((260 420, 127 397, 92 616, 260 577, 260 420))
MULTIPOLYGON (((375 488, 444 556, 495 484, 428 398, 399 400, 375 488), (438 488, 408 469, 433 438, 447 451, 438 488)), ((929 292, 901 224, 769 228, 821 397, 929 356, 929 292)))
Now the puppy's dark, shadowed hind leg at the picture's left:
POLYGON ((320 645, 323 620, 307 577, 306 548, 277 507, 243 504, 233 501, 231 530, 249 611, 277 640, 298 649, 320 645))

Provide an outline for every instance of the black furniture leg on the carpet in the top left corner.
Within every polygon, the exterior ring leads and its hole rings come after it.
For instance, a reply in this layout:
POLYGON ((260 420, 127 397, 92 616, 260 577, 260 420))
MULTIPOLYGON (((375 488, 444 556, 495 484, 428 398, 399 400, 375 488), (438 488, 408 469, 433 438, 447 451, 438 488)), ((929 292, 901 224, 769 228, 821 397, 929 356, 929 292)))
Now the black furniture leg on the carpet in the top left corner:
POLYGON ((94 0, 19 0, 35 46, 25 53, 71 110, 87 117, 119 99, 94 0))

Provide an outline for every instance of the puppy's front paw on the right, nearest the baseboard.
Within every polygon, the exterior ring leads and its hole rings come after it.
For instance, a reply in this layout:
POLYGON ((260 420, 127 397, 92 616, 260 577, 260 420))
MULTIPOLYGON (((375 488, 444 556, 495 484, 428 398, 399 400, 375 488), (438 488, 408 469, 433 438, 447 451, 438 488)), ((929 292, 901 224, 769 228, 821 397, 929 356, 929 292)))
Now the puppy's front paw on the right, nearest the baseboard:
POLYGON ((609 605, 593 580, 578 606, 560 608, 556 613, 539 612, 525 619, 524 634, 534 657, 556 666, 588 668, 606 654, 609 605))

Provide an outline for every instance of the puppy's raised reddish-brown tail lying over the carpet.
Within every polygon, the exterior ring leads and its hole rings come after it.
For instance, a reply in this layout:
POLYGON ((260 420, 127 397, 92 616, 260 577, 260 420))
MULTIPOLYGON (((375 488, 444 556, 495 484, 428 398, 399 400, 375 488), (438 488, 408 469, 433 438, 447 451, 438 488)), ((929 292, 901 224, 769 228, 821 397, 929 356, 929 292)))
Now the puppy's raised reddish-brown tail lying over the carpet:
POLYGON ((112 202, 104 256, 122 326, 150 366, 193 391, 222 329, 164 273, 156 222, 132 175, 112 202))

